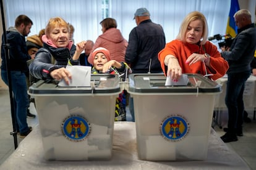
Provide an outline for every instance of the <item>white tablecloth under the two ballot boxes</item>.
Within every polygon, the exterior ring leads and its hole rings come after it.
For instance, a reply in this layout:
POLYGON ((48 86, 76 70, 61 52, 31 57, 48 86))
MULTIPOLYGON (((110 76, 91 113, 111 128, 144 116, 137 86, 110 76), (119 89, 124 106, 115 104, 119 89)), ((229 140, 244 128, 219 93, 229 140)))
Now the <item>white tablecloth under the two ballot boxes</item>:
MULTIPOLYGON (((196 154, 196 153, 195 153, 196 154)), ((0 169, 249 169, 242 158, 211 129, 205 161, 143 161, 137 156, 135 123, 115 122, 113 158, 110 161, 46 161, 40 128, 20 142, 0 169)))

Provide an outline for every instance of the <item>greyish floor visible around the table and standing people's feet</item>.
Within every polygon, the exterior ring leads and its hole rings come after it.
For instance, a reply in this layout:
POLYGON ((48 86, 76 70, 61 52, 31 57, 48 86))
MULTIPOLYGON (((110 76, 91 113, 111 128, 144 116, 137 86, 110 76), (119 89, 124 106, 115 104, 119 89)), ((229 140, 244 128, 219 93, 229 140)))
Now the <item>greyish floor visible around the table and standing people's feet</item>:
MULTIPOLYGON (((33 103, 30 105, 30 112, 36 115, 36 110, 33 103)), ((128 111, 129 112, 129 111, 128 111)), ((253 113, 249 112, 249 118, 252 119, 253 113)), ((36 118, 28 118, 28 125, 34 127, 38 124, 36 118)), ((223 113, 223 124, 226 126, 225 113, 223 113)), ((222 136, 223 130, 218 124, 214 126, 215 131, 222 136)), ((14 137, 10 135, 12 131, 11 111, 9 91, 0 89, 0 164, 14 152, 14 137)), ((17 136, 18 144, 22 140, 17 136)), ((253 170, 256 170, 256 121, 244 124, 244 136, 239 137, 237 142, 230 142, 227 144, 229 148, 237 152, 253 170)))

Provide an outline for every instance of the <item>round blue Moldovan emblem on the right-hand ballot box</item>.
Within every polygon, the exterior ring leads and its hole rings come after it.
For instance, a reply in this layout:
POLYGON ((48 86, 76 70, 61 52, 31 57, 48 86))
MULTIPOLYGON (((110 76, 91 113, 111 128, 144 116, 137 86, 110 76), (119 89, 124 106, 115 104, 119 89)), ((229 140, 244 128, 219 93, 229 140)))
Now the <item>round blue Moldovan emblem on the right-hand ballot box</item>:
POLYGON ((164 139, 178 141, 186 137, 189 132, 189 123, 183 116, 168 116, 161 123, 160 131, 164 139))

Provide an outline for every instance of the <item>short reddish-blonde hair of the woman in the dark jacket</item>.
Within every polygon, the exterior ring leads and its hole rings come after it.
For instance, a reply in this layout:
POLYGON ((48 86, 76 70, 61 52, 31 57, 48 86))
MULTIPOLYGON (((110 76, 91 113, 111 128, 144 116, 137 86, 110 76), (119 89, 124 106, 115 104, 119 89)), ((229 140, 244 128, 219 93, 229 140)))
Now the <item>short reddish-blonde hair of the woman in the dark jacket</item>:
POLYGON ((61 17, 54 17, 49 19, 48 24, 45 27, 46 36, 49 37, 51 30, 53 30, 53 28, 55 28, 56 26, 64 26, 70 33, 69 24, 61 17))

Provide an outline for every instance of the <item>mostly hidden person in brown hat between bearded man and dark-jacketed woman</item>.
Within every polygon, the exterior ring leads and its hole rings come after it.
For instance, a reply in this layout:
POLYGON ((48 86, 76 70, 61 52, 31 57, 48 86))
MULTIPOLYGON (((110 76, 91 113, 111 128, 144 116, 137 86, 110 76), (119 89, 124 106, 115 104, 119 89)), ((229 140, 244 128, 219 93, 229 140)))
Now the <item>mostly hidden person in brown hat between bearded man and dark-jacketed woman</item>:
MULTIPOLYGON (((28 36, 27 37, 27 50, 28 50, 28 55, 33 56, 32 58, 35 58, 35 54, 38 51, 38 49, 40 49, 41 47, 43 47, 43 43, 41 42, 39 36, 37 34, 32 35, 32 36, 28 36)), ((33 59, 31 60, 31 62, 33 61, 33 59)), ((30 62, 30 60, 28 60, 27 62, 30 62)), ((32 85, 32 76, 29 74, 27 76, 27 86, 31 86, 32 85)), ((30 95, 28 95, 28 99, 30 102, 35 103, 35 100, 30 98, 30 95)), ((32 113, 30 113, 29 108, 27 108, 27 116, 30 118, 35 118, 35 115, 33 115, 32 113)))

